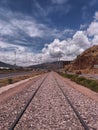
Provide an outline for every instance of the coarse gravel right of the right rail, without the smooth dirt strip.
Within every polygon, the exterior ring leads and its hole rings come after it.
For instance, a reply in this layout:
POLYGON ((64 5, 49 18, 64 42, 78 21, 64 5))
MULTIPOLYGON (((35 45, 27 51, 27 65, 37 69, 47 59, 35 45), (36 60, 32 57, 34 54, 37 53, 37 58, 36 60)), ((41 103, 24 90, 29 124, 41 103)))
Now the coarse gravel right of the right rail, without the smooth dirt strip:
MULTIPOLYGON (((69 86, 61 76, 56 74, 56 78, 89 128, 91 130, 98 130, 98 102, 69 86)), ((77 87, 80 86, 77 85, 77 87)))

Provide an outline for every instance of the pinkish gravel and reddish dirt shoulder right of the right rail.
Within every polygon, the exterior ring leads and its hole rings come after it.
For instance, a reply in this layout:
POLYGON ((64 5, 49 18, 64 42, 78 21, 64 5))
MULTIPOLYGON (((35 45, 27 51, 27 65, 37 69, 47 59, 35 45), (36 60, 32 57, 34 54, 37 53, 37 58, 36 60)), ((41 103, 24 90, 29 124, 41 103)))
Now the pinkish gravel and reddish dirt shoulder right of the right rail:
POLYGON ((97 93, 56 74, 64 93, 90 127, 98 130, 98 96, 97 93), (62 81, 62 82, 61 82, 62 81))

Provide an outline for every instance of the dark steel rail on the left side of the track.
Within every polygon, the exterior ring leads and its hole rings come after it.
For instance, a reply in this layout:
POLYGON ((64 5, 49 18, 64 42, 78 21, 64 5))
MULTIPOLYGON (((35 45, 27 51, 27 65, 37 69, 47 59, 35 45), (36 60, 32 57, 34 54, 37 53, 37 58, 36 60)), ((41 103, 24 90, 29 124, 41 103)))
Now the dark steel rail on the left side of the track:
POLYGON ((35 97, 36 93, 38 92, 38 90, 40 89, 40 87, 42 86, 43 82, 45 81, 45 79, 47 78, 48 75, 46 75, 46 77, 42 80, 42 82, 40 83, 40 85, 38 86, 38 88, 35 90, 35 92, 33 93, 33 95, 31 96, 31 98, 28 100, 28 102, 26 103, 26 105, 24 106, 23 110, 21 110, 21 112, 18 114, 18 116, 16 117, 15 121, 13 122, 13 124, 11 125, 11 127, 9 128, 9 130, 14 130, 14 128, 16 127, 16 125, 18 124, 19 120, 21 119, 22 115, 24 114, 24 112, 26 111, 27 107, 30 105, 31 101, 33 100, 33 98, 35 97))

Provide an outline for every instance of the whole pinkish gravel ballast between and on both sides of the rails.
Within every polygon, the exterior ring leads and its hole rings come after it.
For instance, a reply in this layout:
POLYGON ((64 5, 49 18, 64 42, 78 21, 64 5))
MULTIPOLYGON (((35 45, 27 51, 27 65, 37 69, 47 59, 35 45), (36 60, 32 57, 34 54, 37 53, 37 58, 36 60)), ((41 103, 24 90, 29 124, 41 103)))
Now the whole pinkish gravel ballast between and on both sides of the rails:
MULTIPOLYGON (((0 130, 10 128, 46 75, 32 79, 22 91, 0 103, 0 130)), ((55 79, 90 130, 97 130, 98 102, 72 88, 55 72, 48 74, 15 130, 84 130, 55 79)))

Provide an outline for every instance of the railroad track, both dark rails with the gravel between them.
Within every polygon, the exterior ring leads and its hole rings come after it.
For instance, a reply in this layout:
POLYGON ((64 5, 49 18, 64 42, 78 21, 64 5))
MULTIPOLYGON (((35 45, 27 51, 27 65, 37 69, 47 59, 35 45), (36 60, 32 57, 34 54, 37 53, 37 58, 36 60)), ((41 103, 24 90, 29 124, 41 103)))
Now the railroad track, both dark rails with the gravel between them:
POLYGON ((97 130, 91 129, 86 124, 71 100, 69 100, 68 95, 63 91, 58 78, 53 72, 44 76, 36 86, 36 89, 34 89, 7 130, 29 130, 29 128, 30 130, 44 130, 44 128, 49 130, 59 128, 61 130, 70 128, 67 124, 67 120, 70 119, 71 129, 97 130), (49 122, 51 123, 49 124, 49 122), (64 124, 61 125, 63 122, 64 124), (74 124, 76 125, 74 126, 74 124))

